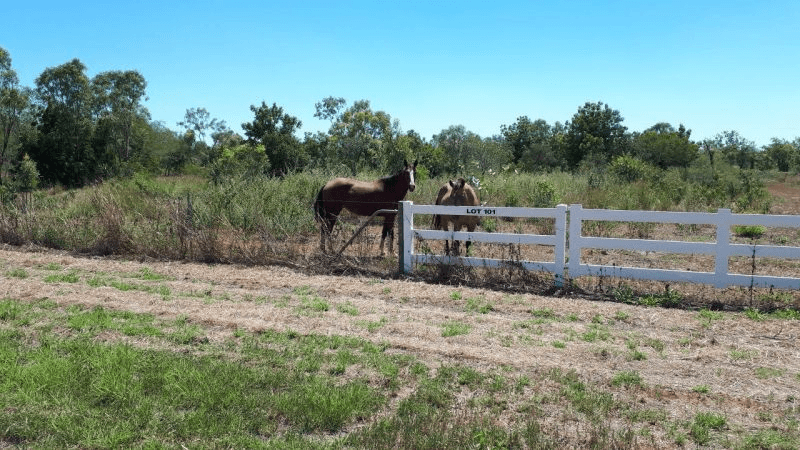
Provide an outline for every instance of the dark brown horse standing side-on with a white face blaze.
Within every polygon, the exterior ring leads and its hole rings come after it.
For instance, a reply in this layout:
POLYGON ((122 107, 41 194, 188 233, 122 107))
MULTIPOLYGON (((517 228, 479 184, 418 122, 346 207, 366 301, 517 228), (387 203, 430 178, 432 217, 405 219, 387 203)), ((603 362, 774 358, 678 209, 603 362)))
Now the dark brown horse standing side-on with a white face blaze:
MULTIPOLYGON (((329 181, 317 194, 314 201, 314 215, 320 222, 320 247, 326 252, 325 240, 329 237, 339 213, 346 209, 359 216, 369 216, 379 209, 397 209, 397 202, 403 200, 406 192, 413 192, 414 172, 417 161, 408 164, 398 173, 375 181, 359 181, 351 178, 335 178, 329 181)), ((394 218, 396 213, 380 213, 383 217, 381 232, 381 256, 386 236, 389 236, 389 251, 394 248, 394 218)))

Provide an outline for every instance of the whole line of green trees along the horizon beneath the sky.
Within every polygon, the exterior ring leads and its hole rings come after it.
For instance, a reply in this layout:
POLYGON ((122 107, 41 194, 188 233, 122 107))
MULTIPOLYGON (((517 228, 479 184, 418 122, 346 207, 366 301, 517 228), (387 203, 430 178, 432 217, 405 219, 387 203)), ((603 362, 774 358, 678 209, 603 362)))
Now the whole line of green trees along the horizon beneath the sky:
MULTIPOLYGON (((19 84, 11 56, 0 48, 0 192, 40 185, 79 187, 136 172, 203 173, 219 182, 231 176, 280 176, 318 167, 355 175, 389 172, 417 159, 427 176, 517 170, 601 171, 631 181, 655 169, 714 167, 800 169, 800 138, 773 139, 762 148, 736 131, 702 142, 691 130, 657 123, 638 132, 619 111, 587 102, 564 123, 519 117, 495 136, 451 126, 430 140, 403 131, 397 119, 374 111, 368 100, 348 104, 328 97, 315 117, 327 132, 301 134, 302 123, 282 107, 250 106, 244 136, 202 107, 189 108, 172 130, 143 106, 147 82, 137 71, 108 71, 93 78, 74 59, 45 69, 35 86, 19 84)), ((423 175, 424 176, 424 175, 423 175)))

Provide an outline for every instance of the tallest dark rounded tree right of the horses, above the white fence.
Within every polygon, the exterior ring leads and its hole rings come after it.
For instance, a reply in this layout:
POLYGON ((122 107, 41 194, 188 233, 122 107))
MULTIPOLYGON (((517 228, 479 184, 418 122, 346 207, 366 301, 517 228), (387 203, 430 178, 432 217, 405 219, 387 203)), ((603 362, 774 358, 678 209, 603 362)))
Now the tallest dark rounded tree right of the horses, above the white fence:
POLYGON ((622 115, 603 102, 586 102, 572 116, 566 135, 566 160, 575 168, 587 156, 609 161, 628 149, 622 115))

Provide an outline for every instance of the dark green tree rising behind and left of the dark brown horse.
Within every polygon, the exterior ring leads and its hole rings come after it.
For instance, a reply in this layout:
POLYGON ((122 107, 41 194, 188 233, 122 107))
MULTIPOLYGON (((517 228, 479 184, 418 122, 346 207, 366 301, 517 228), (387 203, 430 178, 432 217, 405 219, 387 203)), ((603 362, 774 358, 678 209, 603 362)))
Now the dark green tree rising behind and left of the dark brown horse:
POLYGON ((273 103, 268 106, 250 106, 255 118, 252 122, 243 123, 247 142, 253 146, 261 145, 272 167, 273 174, 285 174, 290 170, 299 170, 309 163, 305 146, 295 136, 302 122, 297 117, 283 112, 283 108, 273 103))

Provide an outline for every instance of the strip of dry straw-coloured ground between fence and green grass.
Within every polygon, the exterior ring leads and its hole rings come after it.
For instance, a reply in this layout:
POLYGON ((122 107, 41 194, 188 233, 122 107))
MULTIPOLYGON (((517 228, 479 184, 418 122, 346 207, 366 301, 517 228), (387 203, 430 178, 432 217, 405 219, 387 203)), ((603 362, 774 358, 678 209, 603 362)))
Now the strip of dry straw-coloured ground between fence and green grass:
MULTIPOLYGON (((796 185, 779 189, 787 191, 786 201, 779 204, 785 208, 781 211, 800 211, 800 189, 796 185)), ((708 320, 698 311, 509 294, 410 279, 309 275, 287 267, 88 258, 1 247, 0 298, 42 297, 60 306, 99 305, 164 319, 186 316, 206 327, 211 340, 227 339, 236 329, 357 336, 388 344, 387 351, 413 355, 434 368, 459 363, 487 371, 502 367, 511 374, 574 369, 581 379, 608 389, 615 374, 636 371, 646 388, 633 395, 642 408, 668 411, 668 420, 691 420, 699 411, 715 411, 745 429, 768 428, 765 420, 770 417, 772 426, 782 429, 785 424, 777 418, 784 417, 787 409, 800 411, 800 321, 796 320, 755 321, 728 312, 708 320), (81 281, 45 282, 53 264, 62 272, 78 274, 81 281), (20 268, 27 278, 9 276, 20 268), (124 276, 144 268, 170 277, 158 282, 169 287, 169 298, 86 283, 93 276, 124 276), (304 295, 324 299, 331 307, 318 315, 301 314, 304 295), (476 303, 491 305, 491 310, 477 312, 470 307, 476 303), (358 313, 347 314, 342 306, 358 313), (550 311, 552 320, 537 322, 543 311, 550 311), (443 326, 452 322, 469 324, 470 332, 443 337, 443 326), (609 336, 593 342, 582 339, 597 323, 607 327, 609 336), (565 345, 557 348, 556 342, 565 345), (646 359, 630 357, 631 342, 646 359), (653 345, 659 342, 663 349, 653 345), (707 386, 710 394, 694 392, 697 386, 707 386)))

